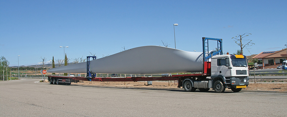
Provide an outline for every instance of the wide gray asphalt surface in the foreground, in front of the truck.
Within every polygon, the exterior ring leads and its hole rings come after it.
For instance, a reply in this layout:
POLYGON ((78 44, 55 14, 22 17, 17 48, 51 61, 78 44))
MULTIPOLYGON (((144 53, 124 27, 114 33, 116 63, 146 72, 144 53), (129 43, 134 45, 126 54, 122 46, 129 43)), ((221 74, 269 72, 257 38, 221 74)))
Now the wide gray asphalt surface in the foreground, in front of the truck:
POLYGON ((287 116, 286 93, 183 92, 0 82, 0 116, 287 116))

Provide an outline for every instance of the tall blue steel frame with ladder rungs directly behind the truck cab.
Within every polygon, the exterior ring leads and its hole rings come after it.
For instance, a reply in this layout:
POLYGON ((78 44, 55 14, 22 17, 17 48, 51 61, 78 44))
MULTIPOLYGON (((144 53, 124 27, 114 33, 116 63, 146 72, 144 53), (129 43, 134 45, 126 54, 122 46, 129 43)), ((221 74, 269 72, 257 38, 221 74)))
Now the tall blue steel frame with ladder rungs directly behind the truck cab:
POLYGON ((214 55, 222 55, 222 39, 216 39, 216 38, 207 38, 207 37, 202 37, 202 47, 203 47, 203 61, 208 62, 208 59, 214 55), (209 54, 208 50, 208 40, 216 40, 217 41, 217 49, 218 51, 215 51, 211 54, 209 54), (207 42, 205 42, 207 41, 207 42), (207 45, 206 45, 207 44, 207 45), (207 53, 206 53, 207 52, 207 53))

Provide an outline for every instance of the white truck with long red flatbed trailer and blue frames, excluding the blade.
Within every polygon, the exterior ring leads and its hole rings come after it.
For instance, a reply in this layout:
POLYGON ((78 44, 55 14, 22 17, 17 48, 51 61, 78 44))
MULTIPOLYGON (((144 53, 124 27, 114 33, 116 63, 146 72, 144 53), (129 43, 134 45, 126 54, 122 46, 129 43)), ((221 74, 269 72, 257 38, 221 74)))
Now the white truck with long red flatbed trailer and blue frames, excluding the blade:
MULTIPOLYGON (((125 78, 97 78, 90 70, 90 57, 87 56, 87 76, 48 76, 50 84, 67 84, 79 81, 98 82, 137 82, 137 81, 169 81, 174 80, 178 88, 183 87, 187 92, 208 91, 212 88, 217 93, 222 93, 226 88, 233 92, 239 92, 249 85, 249 71, 247 68, 247 58, 244 55, 223 55, 222 39, 203 37, 203 62, 200 74, 181 74, 162 77, 125 77, 125 78), (208 50, 208 40, 218 42, 217 51, 208 50), (207 78, 209 77, 210 78, 207 78)), ((192 67, 192 66, 191 66, 192 67)))

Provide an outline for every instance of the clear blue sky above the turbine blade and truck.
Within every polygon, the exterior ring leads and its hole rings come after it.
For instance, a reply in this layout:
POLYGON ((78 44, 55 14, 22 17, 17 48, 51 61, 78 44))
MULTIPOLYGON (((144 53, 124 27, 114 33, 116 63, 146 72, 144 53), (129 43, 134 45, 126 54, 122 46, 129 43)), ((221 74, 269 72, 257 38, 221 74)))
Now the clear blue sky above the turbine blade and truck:
MULTIPOLYGON (((223 39, 235 53, 239 34, 255 45, 244 55, 277 51, 287 42, 287 1, 21 1, 0 0, 0 55, 10 66, 36 65, 46 57, 98 58, 162 41, 185 51, 202 51, 202 37, 223 39)), ((243 41, 247 42, 247 41, 243 41)), ((214 47, 215 48, 215 47, 214 47)))

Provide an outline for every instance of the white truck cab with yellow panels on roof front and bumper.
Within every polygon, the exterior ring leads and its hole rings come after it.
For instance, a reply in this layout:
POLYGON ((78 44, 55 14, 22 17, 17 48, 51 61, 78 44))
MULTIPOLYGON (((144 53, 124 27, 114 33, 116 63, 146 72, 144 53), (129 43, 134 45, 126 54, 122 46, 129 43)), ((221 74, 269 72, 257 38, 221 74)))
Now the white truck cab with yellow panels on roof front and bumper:
MULTIPOLYGON (((216 81, 223 83, 225 88, 238 92, 249 84, 249 71, 245 55, 215 55, 211 59, 211 79, 216 91, 216 81)), ((220 84, 221 85, 221 84, 220 84)), ((219 88, 218 92, 222 88, 219 88)), ((217 92, 217 91, 216 91, 217 92)))

